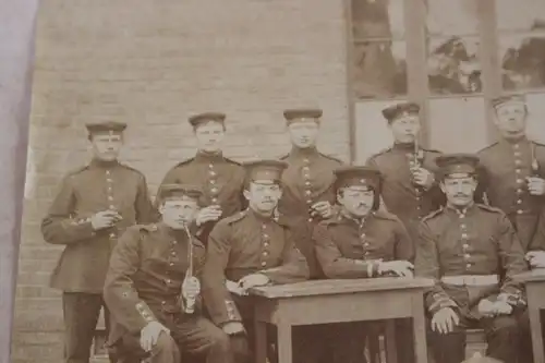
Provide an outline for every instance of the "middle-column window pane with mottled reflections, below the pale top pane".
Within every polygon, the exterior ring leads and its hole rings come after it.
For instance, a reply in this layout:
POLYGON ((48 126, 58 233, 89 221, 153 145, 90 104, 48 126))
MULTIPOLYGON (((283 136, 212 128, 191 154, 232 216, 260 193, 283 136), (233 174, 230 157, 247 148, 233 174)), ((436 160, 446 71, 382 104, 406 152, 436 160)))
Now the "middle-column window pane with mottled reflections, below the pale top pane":
POLYGON ((479 38, 428 39, 428 82, 433 94, 471 94, 483 90, 479 38))

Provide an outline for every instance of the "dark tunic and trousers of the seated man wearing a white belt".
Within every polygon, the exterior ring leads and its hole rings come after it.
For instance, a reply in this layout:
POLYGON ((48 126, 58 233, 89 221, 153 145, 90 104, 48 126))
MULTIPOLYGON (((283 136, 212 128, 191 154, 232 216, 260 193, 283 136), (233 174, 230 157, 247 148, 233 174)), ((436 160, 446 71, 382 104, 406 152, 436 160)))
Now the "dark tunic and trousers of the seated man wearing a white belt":
MULTIPOLYGON (((453 332, 432 332, 431 343, 436 360, 460 362, 464 358, 465 335, 458 330, 481 326, 486 331, 487 354, 506 363, 514 363, 519 337, 519 313, 524 305, 523 288, 512 276, 526 269, 522 247, 507 218, 499 209, 474 204, 465 210, 446 207, 431 214, 421 225, 416 250, 416 276, 435 279, 425 292, 425 305, 431 315, 451 307, 460 316, 453 332), (452 283, 441 278, 496 275, 499 281, 452 283), (482 299, 506 299, 514 308, 511 315, 484 317, 477 311, 482 299)), ((494 277, 494 276, 493 276, 494 277)), ((486 278, 484 278, 486 279, 486 278)))

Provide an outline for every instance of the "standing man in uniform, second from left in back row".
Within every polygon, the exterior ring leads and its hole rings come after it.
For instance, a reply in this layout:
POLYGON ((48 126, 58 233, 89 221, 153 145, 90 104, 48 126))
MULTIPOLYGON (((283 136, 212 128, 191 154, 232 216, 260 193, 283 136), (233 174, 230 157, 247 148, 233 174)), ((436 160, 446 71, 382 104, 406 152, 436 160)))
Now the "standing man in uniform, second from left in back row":
POLYGON ((216 222, 244 207, 242 190, 244 169, 223 156, 221 143, 226 135, 226 116, 206 112, 190 118, 197 154, 169 170, 161 184, 186 183, 204 185, 204 207, 195 220, 199 239, 206 244, 216 222))

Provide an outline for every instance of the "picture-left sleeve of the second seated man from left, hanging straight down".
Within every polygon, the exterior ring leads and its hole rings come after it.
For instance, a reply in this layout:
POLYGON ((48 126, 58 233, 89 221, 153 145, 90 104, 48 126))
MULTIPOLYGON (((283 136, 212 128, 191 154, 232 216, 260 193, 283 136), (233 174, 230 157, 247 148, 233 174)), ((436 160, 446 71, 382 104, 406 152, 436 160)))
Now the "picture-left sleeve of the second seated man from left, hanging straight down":
POLYGON ((226 268, 231 252, 231 229, 219 222, 208 237, 206 262, 203 269, 203 299, 211 320, 222 326, 242 322, 242 317, 226 287, 226 268))

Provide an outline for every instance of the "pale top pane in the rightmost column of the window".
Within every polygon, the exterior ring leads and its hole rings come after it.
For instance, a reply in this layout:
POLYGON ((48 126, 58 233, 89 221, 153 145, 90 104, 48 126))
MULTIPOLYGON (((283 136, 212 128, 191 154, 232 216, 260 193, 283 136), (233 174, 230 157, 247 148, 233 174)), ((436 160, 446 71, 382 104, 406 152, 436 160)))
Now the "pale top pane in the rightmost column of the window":
POLYGON ((545 1, 496 0, 496 16, 500 31, 545 29, 545 1))

